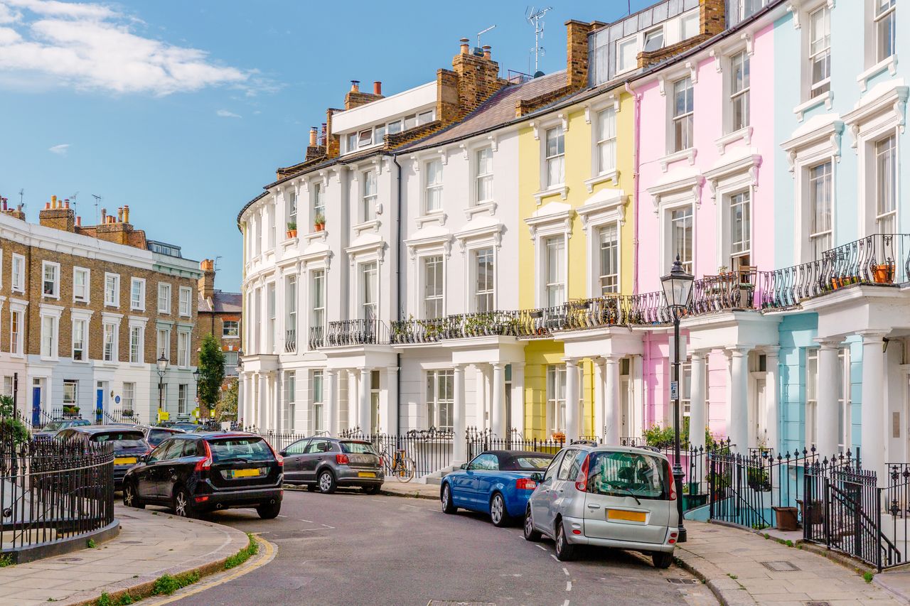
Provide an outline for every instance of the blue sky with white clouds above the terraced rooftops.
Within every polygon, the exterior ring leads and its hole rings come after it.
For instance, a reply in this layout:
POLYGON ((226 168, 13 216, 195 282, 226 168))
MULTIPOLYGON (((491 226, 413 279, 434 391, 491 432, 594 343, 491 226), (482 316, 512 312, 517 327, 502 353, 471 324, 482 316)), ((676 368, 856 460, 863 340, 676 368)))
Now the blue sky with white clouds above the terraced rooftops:
MULTIPOLYGON (((632 0, 632 11, 652 4, 632 0)), ((238 210, 275 168, 302 159, 309 126, 341 106, 349 80, 394 94, 450 67, 458 40, 490 26, 503 69, 528 71, 523 2, 314 3, 0 0, 0 196, 25 189, 30 221, 52 195, 93 194, 187 258, 221 257, 238 290, 238 210), (433 8, 430 8, 433 6, 433 8)), ((545 72, 565 66, 570 18, 612 21, 627 0, 562 0, 544 19, 545 72)))

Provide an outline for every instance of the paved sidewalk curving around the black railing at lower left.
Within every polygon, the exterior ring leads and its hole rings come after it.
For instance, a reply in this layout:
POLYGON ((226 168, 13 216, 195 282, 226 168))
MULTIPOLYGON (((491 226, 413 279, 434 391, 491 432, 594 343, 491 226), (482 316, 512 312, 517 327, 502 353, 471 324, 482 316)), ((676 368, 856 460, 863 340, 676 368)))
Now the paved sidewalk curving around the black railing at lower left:
POLYGON ((119 505, 120 535, 95 549, 0 568, 0 606, 78 604, 162 574, 221 570, 248 545, 247 535, 205 520, 119 505))

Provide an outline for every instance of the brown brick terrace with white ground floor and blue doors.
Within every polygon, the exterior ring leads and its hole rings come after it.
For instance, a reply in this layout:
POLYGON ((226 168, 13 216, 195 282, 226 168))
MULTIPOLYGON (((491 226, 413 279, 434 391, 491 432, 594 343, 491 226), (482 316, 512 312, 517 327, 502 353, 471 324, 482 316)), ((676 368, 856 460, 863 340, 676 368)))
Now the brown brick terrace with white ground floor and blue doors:
POLYGON ((157 417, 194 408, 201 272, 180 248, 148 240, 129 207, 82 226, 52 197, 28 223, 0 206, 0 378, 33 424, 75 407, 84 419, 157 417), (15 380, 17 379, 17 380, 15 380), (125 414, 126 413, 126 414, 125 414))

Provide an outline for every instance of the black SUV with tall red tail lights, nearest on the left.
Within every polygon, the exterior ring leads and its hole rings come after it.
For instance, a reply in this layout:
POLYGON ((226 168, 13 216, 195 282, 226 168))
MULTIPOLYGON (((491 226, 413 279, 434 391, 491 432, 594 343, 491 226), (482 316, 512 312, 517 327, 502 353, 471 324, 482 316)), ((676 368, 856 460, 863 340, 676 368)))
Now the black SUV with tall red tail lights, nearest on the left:
POLYGON ((126 472, 123 504, 167 505, 187 518, 249 507, 261 518, 275 518, 281 510, 283 465, 268 442, 254 434, 175 434, 126 472))

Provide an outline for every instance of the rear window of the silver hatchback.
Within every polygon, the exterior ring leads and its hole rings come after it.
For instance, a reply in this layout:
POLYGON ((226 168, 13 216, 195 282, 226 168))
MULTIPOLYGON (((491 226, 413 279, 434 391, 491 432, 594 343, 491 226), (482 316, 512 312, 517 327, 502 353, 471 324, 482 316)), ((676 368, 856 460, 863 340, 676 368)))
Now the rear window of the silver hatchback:
POLYGON ((638 499, 670 498, 670 468, 658 457, 638 452, 592 452, 588 492, 638 499))

